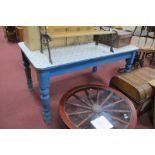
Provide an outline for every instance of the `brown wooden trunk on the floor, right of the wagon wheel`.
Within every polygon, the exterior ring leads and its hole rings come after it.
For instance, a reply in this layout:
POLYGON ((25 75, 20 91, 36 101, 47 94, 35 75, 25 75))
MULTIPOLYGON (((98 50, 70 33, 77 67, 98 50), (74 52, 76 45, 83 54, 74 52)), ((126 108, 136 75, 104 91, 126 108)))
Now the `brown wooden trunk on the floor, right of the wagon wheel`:
POLYGON ((110 85, 117 88, 129 98, 131 98, 137 106, 144 106, 152 101, 153 88, 148 81, 155 79, 155 69, 143 67, 130 73, 123 73, 112 77, 110 85))

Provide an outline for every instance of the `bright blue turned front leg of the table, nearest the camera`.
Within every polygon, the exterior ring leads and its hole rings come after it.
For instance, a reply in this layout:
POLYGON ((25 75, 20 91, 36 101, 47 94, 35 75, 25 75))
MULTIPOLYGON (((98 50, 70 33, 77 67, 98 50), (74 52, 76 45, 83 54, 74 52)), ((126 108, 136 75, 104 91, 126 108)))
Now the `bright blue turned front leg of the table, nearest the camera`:
POLYGON ((43 106, 43 117, 46 123, 51 122, 51 111, 50 111, 50 77, 48 72, 38 72, 40 99, 43 106))

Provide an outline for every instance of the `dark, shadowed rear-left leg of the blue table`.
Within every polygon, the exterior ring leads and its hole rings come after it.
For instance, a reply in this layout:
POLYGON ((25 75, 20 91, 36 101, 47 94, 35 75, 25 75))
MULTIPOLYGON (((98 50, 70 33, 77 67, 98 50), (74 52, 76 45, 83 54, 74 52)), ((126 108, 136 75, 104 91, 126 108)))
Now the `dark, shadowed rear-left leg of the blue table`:
POLYGON ((26 56, 22 52, 22 58, 23 58, 23 64, 24 64, 24 70, 25 70, 25 75, 27 79, 27 85, 30 91, 33 90, 33 84, 32 84, 32 77, 31 77, 31 68, 30 68, 30 63, 26 56))

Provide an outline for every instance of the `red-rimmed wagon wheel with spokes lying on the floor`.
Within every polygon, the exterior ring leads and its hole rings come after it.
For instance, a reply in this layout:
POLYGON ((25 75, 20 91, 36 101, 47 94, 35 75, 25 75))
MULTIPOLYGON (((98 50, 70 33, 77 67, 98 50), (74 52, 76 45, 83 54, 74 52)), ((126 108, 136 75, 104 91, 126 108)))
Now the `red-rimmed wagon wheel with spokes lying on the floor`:
POLYGON ((64 123, 73 129, 93 129, 91 121, 104 116, 113 128, 135 128, 133 103, 120 92, 103 85, 88 84, 69 90, 60 101, 64 123))

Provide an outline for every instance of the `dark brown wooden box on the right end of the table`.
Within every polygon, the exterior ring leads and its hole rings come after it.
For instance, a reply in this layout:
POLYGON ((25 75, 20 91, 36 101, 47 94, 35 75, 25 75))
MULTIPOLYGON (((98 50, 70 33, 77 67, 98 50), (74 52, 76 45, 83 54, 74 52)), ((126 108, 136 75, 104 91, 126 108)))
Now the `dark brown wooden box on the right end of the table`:
POLYGON ((130 44, 131 38, 132 38, 131 32, 117 30, 116 35, 114 34, 104 35, 104 36, 100 36, 99 38, 98 36, 95 36, 94 40, 95 41, 98 40, 99 43, 106 44, 114 48, 120 48, 130 44))

